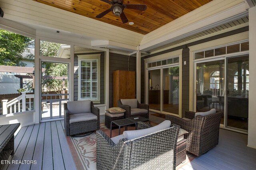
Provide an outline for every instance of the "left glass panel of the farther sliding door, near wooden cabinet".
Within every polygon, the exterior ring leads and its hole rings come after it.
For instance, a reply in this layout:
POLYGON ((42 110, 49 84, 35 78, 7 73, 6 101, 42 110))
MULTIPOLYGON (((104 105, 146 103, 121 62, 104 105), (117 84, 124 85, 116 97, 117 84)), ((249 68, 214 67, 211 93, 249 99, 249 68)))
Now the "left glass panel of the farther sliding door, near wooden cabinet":
POLYGON ((150 109, 161 110, 160 102, 161 70, 148 70, 148 105, 150 109))

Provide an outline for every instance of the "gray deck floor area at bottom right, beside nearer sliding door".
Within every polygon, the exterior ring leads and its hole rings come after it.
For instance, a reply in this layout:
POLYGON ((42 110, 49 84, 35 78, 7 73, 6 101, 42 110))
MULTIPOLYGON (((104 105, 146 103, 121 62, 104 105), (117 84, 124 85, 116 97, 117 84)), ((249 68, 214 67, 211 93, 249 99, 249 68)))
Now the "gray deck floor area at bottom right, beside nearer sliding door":
POLYGON ((219 144, 179 170, 256 170, 256 149, 247 135, 220 129, 219 144))

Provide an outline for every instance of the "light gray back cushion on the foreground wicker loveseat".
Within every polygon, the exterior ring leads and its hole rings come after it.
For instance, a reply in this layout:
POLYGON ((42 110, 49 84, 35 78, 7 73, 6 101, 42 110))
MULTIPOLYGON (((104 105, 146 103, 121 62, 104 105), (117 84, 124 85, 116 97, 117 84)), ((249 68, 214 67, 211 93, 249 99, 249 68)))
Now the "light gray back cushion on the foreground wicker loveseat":
POLYGON ((123 132, 123 138, 127 138, 128 140, 135 139, 138 137, 142 137, 145 135, 148 135, 150 133, 155 133, 156 131, 161 131, 164 129, 167 129, 171 126, 171 121, 165 120, 159 125, 147 128, 147 129, 140 129, 135 131, 124 131, 123 132))

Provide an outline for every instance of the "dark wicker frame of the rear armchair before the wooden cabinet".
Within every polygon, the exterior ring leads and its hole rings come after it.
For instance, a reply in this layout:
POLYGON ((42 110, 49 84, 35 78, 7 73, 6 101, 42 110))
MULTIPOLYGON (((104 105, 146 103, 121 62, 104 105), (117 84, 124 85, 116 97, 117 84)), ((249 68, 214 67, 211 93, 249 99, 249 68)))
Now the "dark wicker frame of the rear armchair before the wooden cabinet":
MULTIPOLYGON (((145 117, 145 118, 148 119, 148 113, 131 115, 131 106, 123 105, 121 100, 118 100, 117 103, 118 103, 118 107, 121 107, 122 109, 126 110, 126 112, 124 112, 124 118, 141 116, 141 117, 145 117)), ((140 104, 139 102, 137 102, 137 108, 148 110, 148 105, 147 104, 140 104)))

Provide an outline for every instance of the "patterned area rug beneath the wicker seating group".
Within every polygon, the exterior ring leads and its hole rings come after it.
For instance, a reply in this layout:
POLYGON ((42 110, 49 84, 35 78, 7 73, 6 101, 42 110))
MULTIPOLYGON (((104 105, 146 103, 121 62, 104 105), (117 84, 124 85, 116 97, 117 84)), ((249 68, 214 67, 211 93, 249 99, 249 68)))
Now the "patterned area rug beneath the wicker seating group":
MULTIPOLYGON (((134 130, 135 127, 128 127, 128 130, 134 130)), ((100 124, 100 130, 110 136, 110 130, 105 127, 104 123, 100 124)), ((122 134, 124 128, 121 128, 122 134)), ((112 137, 119 134, 118 129, 112 130, 112 137)), ((72 156, 74 158, 76 168, 78 170, 96 170, 96 133, 92 133, 85 137, 67 137, 72 156)), ((176 170, 192 161, 196 156, 187 153, 186 161, 176 167, 176 170)))

